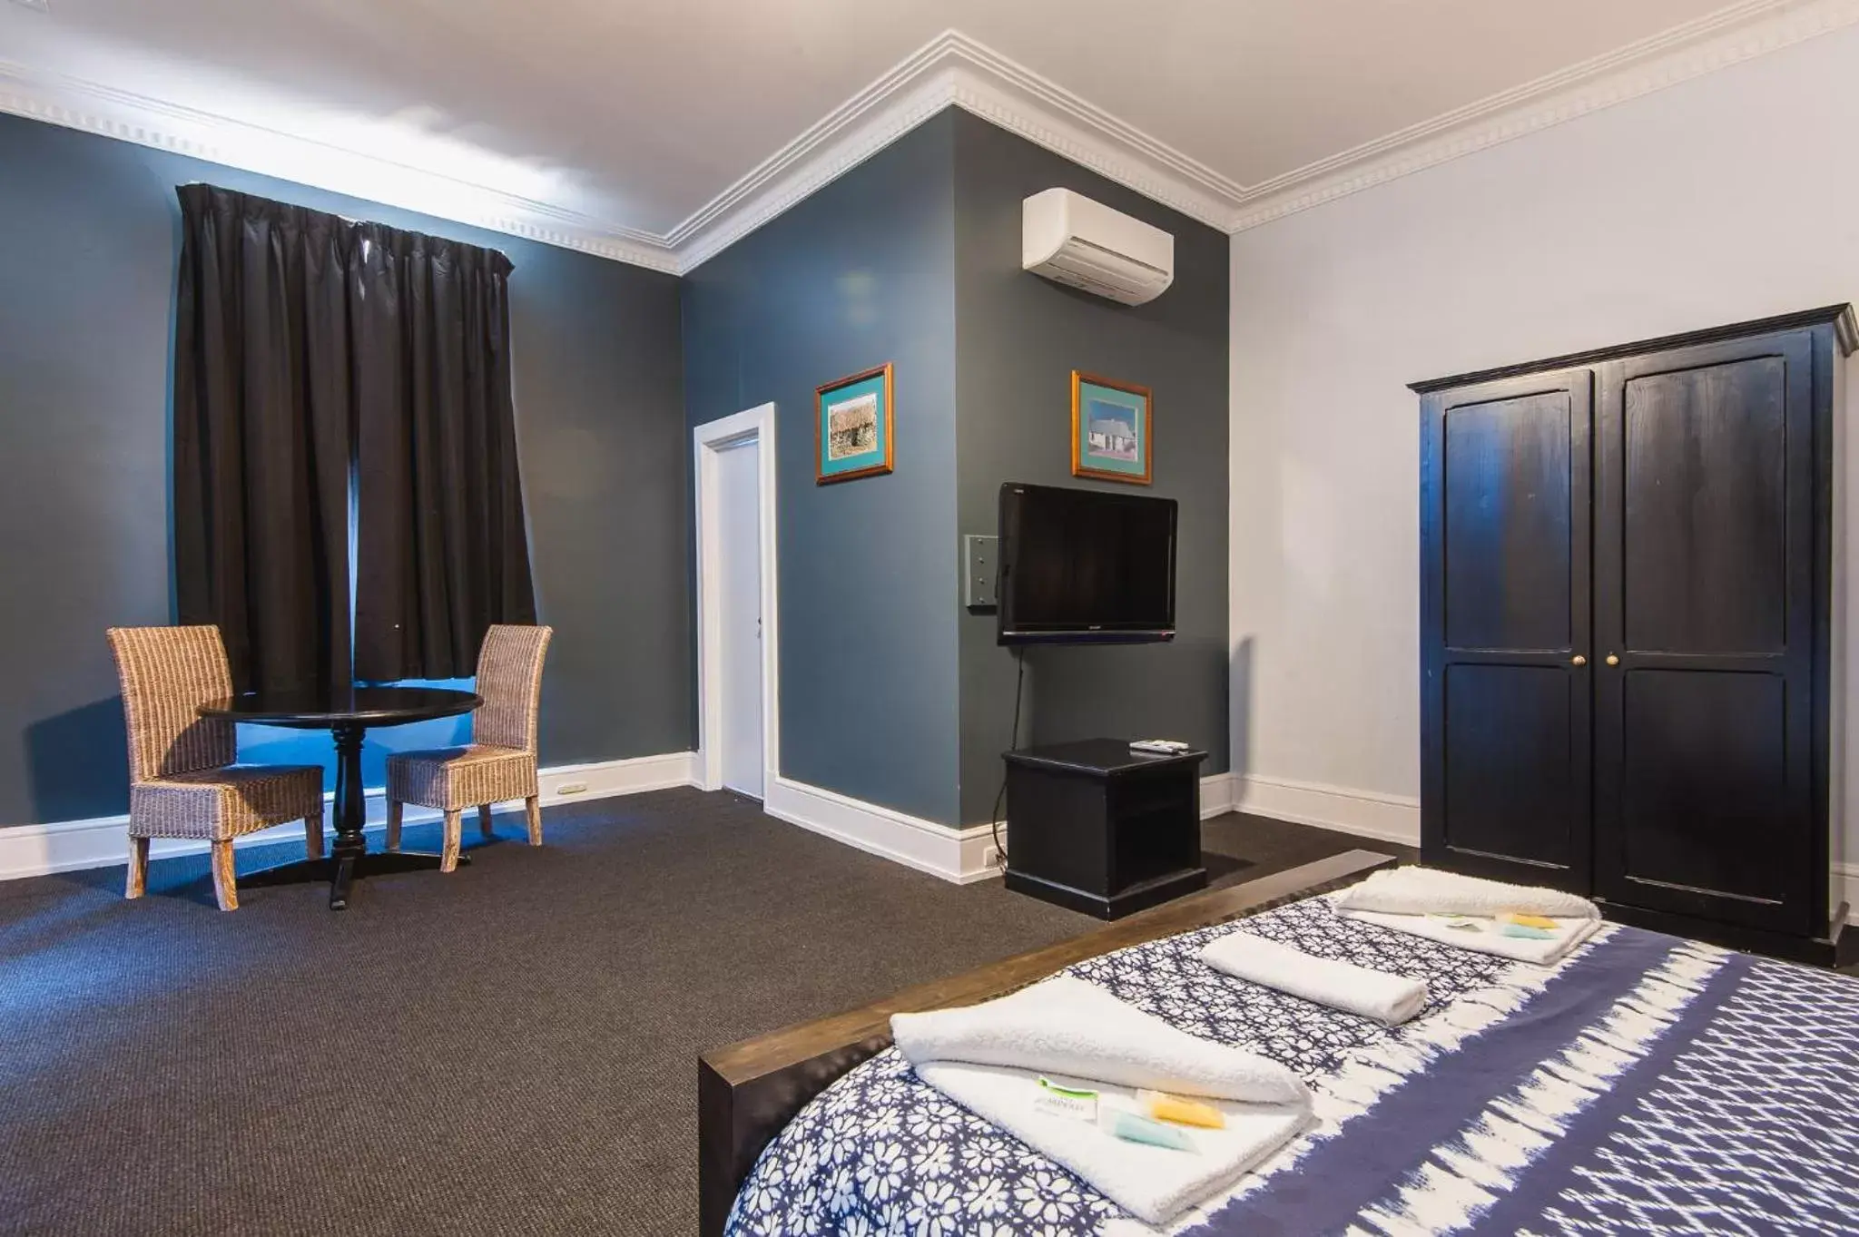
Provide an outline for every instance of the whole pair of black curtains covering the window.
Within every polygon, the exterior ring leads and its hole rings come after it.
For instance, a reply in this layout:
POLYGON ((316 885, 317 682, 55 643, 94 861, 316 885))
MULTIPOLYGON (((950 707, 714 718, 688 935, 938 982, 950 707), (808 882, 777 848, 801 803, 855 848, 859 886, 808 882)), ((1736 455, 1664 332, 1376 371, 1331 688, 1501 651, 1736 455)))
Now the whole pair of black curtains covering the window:
POLYGON ((472 674, 535 622, 509 258, 212 186, 180 210, 180 618, 242 689, 472 674))

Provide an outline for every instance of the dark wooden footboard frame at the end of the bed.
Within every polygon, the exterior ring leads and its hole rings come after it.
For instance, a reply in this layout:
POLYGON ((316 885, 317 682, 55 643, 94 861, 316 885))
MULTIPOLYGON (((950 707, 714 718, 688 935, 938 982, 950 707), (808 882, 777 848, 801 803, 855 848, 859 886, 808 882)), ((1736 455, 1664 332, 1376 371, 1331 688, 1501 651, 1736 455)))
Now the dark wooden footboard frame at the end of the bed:
POLYGON ((1244 884, 1193 893, 1058 945, 905 988, 863 1009, 742 1040, 697 1059, 699 1231, 719 1237, 755 1159, 801 1107, 890 1048, 890 1016, 974 1005, 1112 949, 1270 910, 1361 880, 1394 856, 1346 851, 1244 884))

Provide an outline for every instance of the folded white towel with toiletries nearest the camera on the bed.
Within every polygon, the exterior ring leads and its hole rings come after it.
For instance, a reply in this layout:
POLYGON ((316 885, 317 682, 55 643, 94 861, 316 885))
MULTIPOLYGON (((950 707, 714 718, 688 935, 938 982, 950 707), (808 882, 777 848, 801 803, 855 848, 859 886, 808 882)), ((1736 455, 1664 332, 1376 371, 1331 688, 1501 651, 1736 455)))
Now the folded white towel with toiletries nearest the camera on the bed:
POLYGON ((1177 1031, 1082 979, 1048 979, 969 1009, 896 1014, 916 1075, 1089 1181, 1149 1224, 1220 1192, 1309 1122, 1290 1070, 1177 1031), (1041 1111, 1039 1075, 1136 1107, 1138 1088, 1203 1096, 1225 1129, 1188 1129, 1193 1150, 1125 1142, 1095 1122, 1041 1111))

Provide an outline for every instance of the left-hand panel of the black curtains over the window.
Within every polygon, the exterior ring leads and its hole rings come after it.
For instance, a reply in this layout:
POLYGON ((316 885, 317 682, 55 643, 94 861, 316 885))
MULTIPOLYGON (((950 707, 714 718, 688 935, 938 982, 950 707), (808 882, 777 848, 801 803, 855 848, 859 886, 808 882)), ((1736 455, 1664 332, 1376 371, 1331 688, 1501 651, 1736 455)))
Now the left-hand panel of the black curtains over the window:
POLYGON ((240 689, 349 680, 353 422, 342 219, 180 188, 175 592, 240 689))

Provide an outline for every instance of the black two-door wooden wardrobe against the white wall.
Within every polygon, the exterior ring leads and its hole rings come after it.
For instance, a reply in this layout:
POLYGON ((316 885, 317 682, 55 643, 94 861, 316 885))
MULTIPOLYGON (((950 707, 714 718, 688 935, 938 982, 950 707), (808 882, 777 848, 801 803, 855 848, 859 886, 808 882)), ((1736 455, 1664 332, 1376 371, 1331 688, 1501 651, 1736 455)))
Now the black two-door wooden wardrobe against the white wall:
POLYGON ((1426 862, 1833 955, 1853 345, 1840 305, 1413 384, 1426 862))

